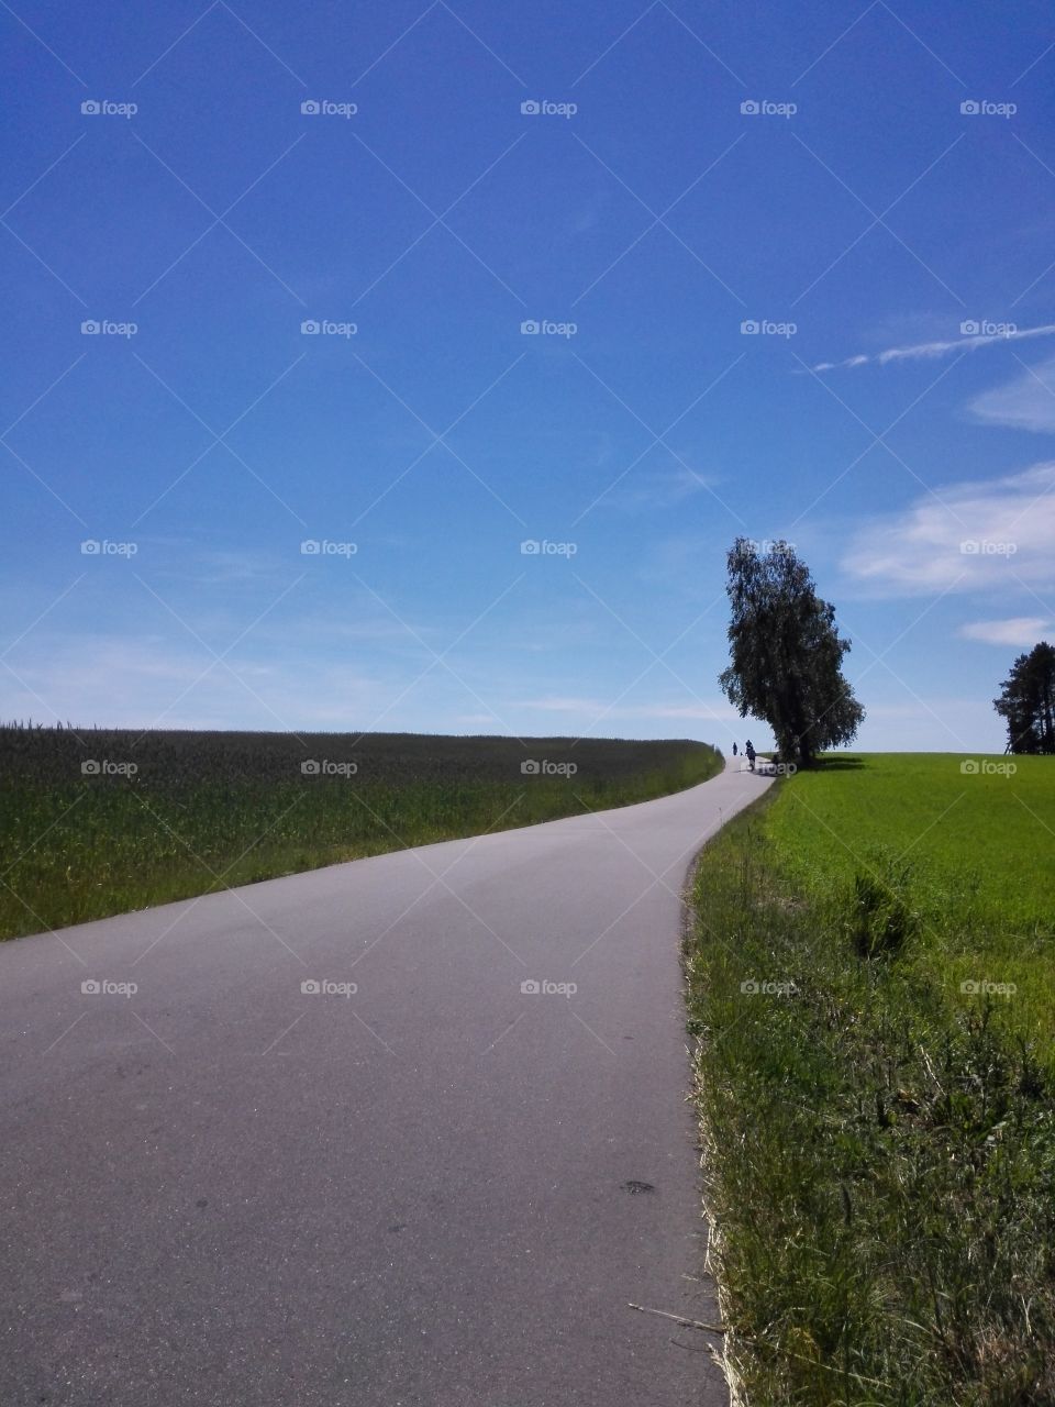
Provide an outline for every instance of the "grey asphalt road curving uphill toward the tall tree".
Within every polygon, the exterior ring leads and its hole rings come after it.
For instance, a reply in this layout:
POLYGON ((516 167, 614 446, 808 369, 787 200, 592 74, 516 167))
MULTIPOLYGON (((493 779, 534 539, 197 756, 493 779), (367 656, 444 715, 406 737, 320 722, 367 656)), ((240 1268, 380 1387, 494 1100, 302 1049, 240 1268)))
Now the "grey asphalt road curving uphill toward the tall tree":
POLYGON ((627 1304, 717 1313, 679 891, 767 785, 0 946, 3 1407, 724 1403, 627 1304))

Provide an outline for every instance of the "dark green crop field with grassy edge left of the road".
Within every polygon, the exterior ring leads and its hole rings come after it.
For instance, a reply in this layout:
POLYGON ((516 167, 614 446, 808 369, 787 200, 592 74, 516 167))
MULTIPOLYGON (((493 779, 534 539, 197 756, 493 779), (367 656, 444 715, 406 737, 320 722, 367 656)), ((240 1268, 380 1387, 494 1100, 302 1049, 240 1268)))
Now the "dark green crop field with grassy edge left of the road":
POLYGON ((0 727, 0 937, 648 801, 703 743, 0 727))

